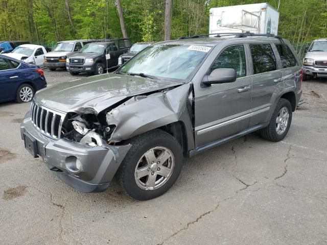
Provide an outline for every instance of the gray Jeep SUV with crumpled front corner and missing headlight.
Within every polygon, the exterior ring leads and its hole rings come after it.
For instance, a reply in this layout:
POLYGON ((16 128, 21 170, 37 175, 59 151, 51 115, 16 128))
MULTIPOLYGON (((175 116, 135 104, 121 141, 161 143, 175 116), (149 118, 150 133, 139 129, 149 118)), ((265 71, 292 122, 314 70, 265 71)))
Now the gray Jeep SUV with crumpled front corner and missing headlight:
POLYGON ((103 191, 116 176, 131 197, 148 200, 174 184, 183 157, 254 131, 282 140, 301 79, 294 49, 277 36, 159 42, 113 74, 38 91, 21 138, 82 192, 103 191))

